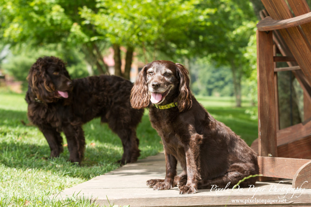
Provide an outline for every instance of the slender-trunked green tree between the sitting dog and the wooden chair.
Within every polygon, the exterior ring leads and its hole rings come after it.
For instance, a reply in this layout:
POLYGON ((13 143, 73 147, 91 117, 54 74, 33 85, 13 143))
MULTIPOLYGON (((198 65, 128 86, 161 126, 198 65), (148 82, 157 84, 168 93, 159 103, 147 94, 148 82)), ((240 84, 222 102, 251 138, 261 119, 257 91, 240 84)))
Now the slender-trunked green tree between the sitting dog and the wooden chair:
POLYGON ((213 16, 213 19, 214 22, 218 22, 214 34, 219 38, 210 49, 209 56, 219 65, 230 67, 236 106, 241 106, 241 81, 253 70, 249 58, 244 54, 250 37, 255 34, 257 19, 252 5, 247 1, 223 0, 215 1, 213 4, 218 8, 217 16, 213 16))

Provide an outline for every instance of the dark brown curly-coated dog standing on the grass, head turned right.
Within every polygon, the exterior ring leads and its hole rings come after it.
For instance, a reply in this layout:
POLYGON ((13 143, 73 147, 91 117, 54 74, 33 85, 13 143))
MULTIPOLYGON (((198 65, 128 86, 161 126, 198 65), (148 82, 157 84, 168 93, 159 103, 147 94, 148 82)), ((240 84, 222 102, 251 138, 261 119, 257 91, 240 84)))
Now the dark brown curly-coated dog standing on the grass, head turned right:
POLYGON ((121 164, 135 162, 140 155, 136 128, 143 109, 131 107, 132 83, 117 76, 101 75, 71 80, 64 62, 53 56, 39 58, 30 68, 28 117, 49 143, 51 157, 63 151, 66 135, 69 160, 81 163, 85 148, 82 124, 101 117, 118 134, 123 145, 121 164))

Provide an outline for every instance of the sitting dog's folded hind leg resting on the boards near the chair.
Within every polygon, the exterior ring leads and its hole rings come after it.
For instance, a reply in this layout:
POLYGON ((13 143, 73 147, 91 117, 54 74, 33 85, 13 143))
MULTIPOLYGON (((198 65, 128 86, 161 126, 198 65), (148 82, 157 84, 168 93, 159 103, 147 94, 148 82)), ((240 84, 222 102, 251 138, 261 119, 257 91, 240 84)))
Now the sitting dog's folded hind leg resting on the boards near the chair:
MULTIPOLYGON (((198 183, 199 189, 210 189, 210 188, 232 188, 234 187, 240 180, 249 175, 256 174, 254 170, 254 166, 251 164, 244 163, 235 163, 232 164, 229 170, 222 176, 209 179, 209 180, 201 180, 198 183)), ((249 185, 254 185, 257 181, 257 178, 249 178, 239 184, 239 187, 248 187, 249 185)))

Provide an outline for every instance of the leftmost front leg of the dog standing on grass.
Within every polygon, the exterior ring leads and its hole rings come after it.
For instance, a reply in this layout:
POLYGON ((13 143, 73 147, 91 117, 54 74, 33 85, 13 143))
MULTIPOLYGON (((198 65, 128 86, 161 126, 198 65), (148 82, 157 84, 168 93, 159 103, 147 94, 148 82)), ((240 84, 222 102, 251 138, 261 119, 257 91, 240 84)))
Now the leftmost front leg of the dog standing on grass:
POLYGON ((51 126, 39 126, 40 131, 43 133, 46 141, 49 144, 51 154, 50 158, 58 157, 63 152, 63 138, 55 128, 51 126))

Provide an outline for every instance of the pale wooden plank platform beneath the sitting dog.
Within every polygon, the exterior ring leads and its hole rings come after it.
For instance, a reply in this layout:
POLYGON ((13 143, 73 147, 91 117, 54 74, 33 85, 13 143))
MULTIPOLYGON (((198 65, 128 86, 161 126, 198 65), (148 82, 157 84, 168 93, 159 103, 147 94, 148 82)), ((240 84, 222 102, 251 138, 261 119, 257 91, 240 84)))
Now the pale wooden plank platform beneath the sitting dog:
MULTIPOLYGON (((179 168, 180 172, 180 168, 179 168)), ((177 187, 155 191, 146 181, 165 177, 164 154, 159 153, 133 164, 97 176, 58 195, 61 199, 72 195, 92 198, 100 206, 311 206, 311 189, 291 187, 292 180, 257 182, 255 187, 242 189, 204 189, 196 194, 179 195, 177 187)), ((309 180, 311 182, 311 180, 309 180)))

